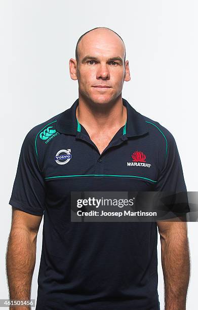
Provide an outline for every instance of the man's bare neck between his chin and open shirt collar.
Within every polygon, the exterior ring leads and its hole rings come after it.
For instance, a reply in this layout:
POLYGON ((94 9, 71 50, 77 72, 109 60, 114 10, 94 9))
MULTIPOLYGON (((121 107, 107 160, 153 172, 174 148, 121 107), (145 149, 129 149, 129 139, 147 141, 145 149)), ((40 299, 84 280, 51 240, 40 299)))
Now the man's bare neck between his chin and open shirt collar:
POLYGON ((107 104, 88 102, 79 96, 76 118, 88 133, 116 132, 127 121, 127 108, 123 105, 122 95, 107 104))

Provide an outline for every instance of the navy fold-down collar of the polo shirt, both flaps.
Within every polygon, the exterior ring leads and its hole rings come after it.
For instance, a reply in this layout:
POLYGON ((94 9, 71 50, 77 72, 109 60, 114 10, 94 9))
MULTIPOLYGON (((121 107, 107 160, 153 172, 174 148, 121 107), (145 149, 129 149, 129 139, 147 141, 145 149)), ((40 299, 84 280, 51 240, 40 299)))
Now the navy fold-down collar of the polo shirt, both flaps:
MULTIPOLYGON (((123 104, 127 108, 127 123, 125 126, 125 135, 127 137, 141 136, 148 132, 147 124, 142 114, 137 112, 130 103, 123 99, 123 104)), ((80 125, 77 122, 75 110, 78 105, 78 99, 71 105, 70 108, 61 113, 59 119, 55 123, 56 130, 59 133, 67 135, 76 135, 77 131, 80 131, 80 125)))

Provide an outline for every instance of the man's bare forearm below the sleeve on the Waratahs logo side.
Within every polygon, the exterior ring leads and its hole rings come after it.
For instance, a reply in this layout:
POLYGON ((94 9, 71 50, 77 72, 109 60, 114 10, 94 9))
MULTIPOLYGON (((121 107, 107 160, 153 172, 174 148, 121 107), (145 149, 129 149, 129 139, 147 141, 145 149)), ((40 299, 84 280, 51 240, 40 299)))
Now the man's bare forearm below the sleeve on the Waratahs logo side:
POLYGON ((190 277, 187 224, 159 221, 157 226, 161 240, 165 310, 185 310, 190 277))

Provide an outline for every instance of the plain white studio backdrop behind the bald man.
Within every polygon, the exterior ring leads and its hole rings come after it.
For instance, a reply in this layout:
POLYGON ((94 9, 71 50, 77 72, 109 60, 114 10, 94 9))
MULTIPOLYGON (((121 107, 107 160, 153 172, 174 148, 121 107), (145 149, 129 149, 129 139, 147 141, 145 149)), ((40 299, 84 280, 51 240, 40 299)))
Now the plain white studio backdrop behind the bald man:
MULTIPOLYGON (((198 3, 195 0, 69 2, 1 0, 1 287, 8 298, 5 254, 11 226, 8 205, 27 132, 70 107, 78 96, 69 58, 84 32, 106 26, 123 37, 132 79, 123 97, 175 137, 188 191, 197 190, 198 3)), ((37 238, 31 298, 37 295, 42 245, 37 238)), ((188 223, 191 278, 187 310, 197 309, 197 223, 188 223)), ((159 250, 159 296, 164 284, 159 250)), ((163 308, 163 307, 162 307, 163 308)), ((5 308, 6 309, 6 308, 5 308)))

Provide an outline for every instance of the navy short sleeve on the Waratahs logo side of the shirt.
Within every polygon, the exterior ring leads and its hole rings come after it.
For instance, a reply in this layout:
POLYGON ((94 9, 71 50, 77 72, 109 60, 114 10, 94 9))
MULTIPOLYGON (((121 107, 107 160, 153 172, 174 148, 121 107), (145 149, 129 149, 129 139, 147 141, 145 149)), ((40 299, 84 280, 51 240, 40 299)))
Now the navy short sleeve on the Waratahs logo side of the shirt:
POLYGON ((182 164, 173 135, 168 131, 166 136, 167 153, 164 167, 159 171, 155 191, 166 191, 171 210, 177 215, 189 212, 186 184, 182 164), (170 199, 172 198, 172 199, 170 199))

